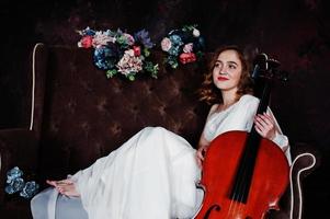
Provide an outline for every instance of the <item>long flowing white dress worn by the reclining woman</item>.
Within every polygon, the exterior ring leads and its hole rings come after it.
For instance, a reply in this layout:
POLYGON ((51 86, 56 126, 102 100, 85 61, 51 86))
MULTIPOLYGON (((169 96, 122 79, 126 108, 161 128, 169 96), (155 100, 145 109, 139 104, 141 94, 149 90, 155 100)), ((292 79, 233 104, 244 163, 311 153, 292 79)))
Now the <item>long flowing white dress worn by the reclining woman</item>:
MULTIPOLYGON (((243 95, 226 111, 210 114, 204 137, 212 141, 228 130, 250 130, 258 104, 254 96, 243 95)), ((281 132, 274 141, 291 161, 287 138, 281 132)), ((200 175, 195 149, 185 139, 161 127, 147 127, 71 180, 89 219, 170 219, 196 214, 203 199, 195 187, 200 175)), ((43 193, 32 199, 34 219, 42 215, 45 195, 38 200, 43 193)), ((57 192, 47 193, 47 208, 43 209, 53 219, 57 192)))

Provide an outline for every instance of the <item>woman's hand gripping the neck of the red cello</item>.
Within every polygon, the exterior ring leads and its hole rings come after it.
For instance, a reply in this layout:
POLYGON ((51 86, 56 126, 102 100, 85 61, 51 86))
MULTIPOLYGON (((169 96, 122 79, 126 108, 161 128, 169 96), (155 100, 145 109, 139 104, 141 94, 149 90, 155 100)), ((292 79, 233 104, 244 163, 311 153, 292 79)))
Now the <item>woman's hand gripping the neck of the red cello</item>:
POLYGON ((257 132, 260 134, 263 138, 268 138, 270 140, 275 138, 275 122, 269 114, 263 113, 255 115, 254 125, 257 132))

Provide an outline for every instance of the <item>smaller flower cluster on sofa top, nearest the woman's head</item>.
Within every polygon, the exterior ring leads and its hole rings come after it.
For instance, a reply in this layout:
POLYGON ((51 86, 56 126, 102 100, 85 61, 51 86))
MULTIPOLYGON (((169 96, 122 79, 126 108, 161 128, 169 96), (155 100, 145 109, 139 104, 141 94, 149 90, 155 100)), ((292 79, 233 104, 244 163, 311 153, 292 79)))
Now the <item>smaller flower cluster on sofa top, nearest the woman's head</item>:
POLYGON ((198 60, 205 50, 204 38, 201 36, 197 25, 184 25, 182 28, 172 30, 161 41, 161 49, 168 54, 164 62, 178 68, 181 64, 198 60))

